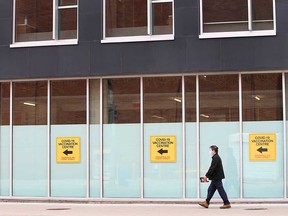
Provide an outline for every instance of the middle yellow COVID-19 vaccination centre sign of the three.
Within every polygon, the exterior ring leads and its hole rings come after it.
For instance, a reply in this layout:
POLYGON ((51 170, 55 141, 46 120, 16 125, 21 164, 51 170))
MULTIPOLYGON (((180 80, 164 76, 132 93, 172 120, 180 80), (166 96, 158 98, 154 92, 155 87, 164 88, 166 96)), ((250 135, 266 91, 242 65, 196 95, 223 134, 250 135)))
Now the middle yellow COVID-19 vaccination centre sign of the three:
POLYGON ((151 162, 176 162, 176 136, 150 137, 151 162))

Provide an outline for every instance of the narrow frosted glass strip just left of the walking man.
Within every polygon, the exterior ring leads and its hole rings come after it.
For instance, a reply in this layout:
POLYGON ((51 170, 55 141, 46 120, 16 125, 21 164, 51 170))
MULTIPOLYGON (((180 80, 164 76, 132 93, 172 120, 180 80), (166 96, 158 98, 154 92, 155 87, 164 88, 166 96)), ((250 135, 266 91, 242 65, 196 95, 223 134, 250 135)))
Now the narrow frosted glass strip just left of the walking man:
POLYGON ((186 124, 186 197, 197 198, 196 123, 186 124))

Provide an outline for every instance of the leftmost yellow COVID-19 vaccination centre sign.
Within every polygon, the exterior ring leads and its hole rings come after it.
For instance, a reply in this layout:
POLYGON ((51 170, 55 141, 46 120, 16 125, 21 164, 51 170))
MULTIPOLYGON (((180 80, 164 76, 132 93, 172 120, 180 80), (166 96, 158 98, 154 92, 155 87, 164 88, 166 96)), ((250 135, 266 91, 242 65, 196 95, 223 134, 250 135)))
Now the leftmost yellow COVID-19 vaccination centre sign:
POLYGON ((80 137, 57 137, 56 160, 57 163, 79 163, 80 137))

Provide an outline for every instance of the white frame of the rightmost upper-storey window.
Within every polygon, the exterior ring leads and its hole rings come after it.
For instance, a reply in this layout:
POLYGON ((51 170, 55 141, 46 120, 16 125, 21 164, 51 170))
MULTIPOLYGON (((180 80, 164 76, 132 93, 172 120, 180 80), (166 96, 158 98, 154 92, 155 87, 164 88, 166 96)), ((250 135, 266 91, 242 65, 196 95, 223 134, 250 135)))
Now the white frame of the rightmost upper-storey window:
POLYGON ((253 30, 252 29, 252 0, 247 0, 248 3, 248 30, 247 31, 231 31, 231 32, 203 32, 203 0, 200 0, 200 39, 205 38, 230 38, 230 37, 256 37, 256 36, 275 36, 276 35, 276 3, 273 4, 273 29, 272 30, 253 30))

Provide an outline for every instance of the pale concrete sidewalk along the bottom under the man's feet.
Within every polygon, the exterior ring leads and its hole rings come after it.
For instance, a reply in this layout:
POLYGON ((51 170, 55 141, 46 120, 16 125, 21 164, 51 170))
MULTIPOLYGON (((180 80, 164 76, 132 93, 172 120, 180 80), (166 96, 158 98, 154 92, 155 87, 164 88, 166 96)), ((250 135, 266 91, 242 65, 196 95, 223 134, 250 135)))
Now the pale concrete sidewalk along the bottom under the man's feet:
POLYGON ((196 204, 0 203, 0 216, 286 216, 288 204, 234 204, 231 209, 196 204))

